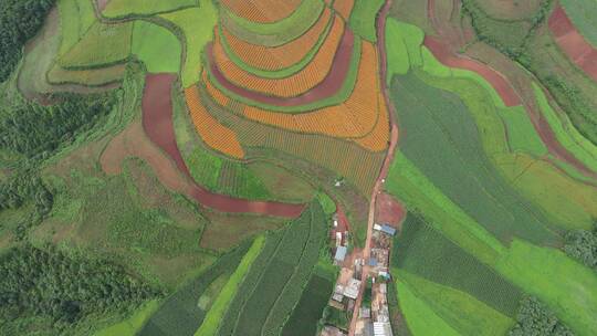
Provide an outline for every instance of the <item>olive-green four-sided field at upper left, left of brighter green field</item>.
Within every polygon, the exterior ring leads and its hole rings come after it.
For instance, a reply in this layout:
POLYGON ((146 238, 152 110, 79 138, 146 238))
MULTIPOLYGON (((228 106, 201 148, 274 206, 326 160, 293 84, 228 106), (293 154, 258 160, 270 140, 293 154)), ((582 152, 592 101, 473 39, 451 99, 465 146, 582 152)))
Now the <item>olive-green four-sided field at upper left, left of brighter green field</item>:
POLYGON ((130 55, 133 23, 95 22, 64 55, 59 64, 65 69, 102 67, 125 62, 130 55))

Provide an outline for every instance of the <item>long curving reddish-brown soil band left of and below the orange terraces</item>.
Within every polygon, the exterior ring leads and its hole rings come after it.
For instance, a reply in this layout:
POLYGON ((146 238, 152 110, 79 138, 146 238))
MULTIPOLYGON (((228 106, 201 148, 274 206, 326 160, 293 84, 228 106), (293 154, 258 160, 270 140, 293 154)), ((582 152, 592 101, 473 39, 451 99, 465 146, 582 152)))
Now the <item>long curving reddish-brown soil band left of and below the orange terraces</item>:
MULTIPOLYGON (((176 162, 178 170, 192 180, 187 165, 182 160, 176 144, 174 124, 171 87, 176 76, 172 74, 149 74, 143 95, 143 126, 149 139, 164 150, 176 162)), ((153 165, 161 170, 161 165, 153 165)), ((191 183, 188 195, 199 203, 223 212, 250 212, 275 217, 296 218, 304 209, 303 204, 281 202, 262 202, 231 198, 207 191, 191 183)))

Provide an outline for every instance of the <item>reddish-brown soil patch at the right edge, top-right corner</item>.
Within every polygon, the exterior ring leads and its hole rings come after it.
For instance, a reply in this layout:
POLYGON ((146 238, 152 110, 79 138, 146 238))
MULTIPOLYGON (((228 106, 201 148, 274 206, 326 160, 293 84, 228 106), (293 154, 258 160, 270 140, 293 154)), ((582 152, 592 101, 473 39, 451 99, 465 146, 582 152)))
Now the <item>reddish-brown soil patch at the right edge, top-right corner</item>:
POLYGON ((593 80, 597 81, 597 50, 576 30, 562 7, 549 18, 549 30, 559 48, 593 80))

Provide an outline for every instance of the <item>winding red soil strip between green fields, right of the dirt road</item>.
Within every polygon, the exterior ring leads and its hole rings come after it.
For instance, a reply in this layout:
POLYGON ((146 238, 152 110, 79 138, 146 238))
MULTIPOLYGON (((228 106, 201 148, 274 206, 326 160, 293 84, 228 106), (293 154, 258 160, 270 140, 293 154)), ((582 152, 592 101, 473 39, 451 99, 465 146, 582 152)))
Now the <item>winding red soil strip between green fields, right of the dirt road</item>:
POLYGON ((512 85, 510 85, 506 78, 494 69, 471 59, 455 56, 450 52, 446 44, 432 36, 426 35, 423 44, 442 64, 450 67, 473 71, 480 74, 495 88, 506 106, 519 106, 522 104, 519 94, 516 94, 512 85))

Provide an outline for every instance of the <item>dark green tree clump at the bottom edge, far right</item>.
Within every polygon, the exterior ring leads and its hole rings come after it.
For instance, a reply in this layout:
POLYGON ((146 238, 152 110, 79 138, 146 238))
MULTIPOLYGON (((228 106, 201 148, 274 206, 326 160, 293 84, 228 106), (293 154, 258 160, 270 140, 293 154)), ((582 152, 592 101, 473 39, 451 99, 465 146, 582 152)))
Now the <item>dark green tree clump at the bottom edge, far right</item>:
POLYGON ((572 336, 570 329, 562 324, 554 313, 538 302, 535 297, 525 297, 521 303, 517 323, 510 336, 572 336))

